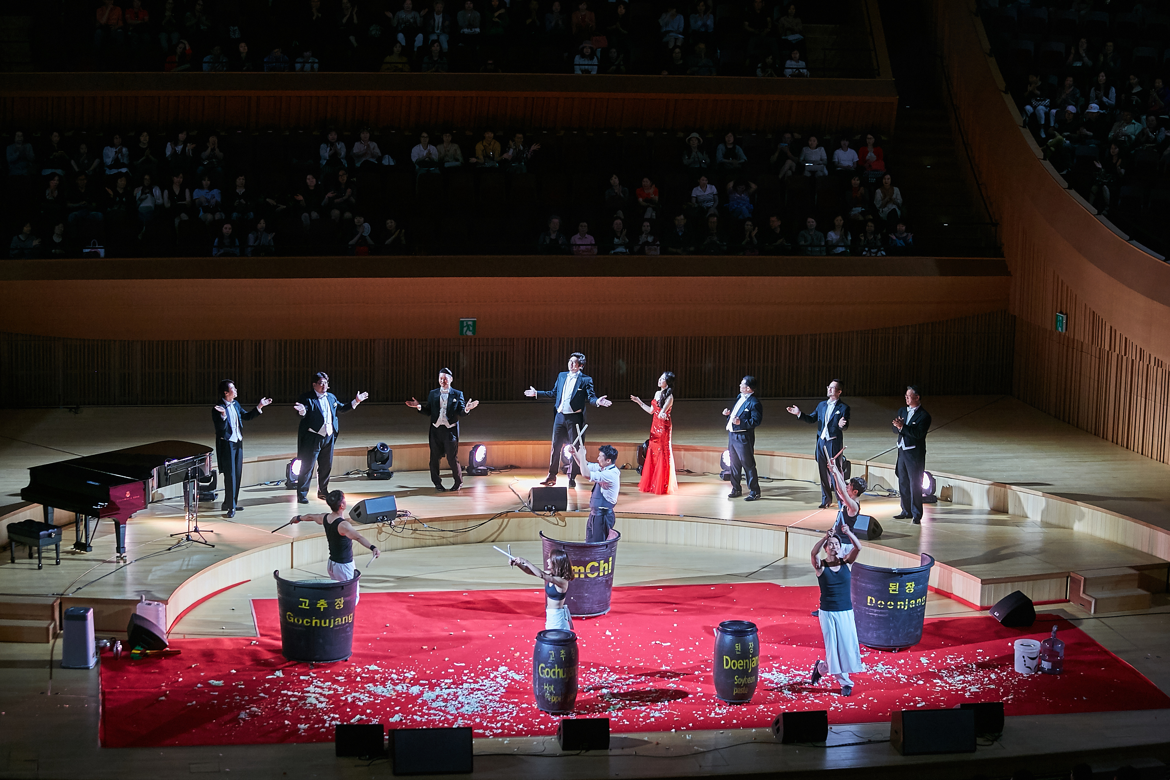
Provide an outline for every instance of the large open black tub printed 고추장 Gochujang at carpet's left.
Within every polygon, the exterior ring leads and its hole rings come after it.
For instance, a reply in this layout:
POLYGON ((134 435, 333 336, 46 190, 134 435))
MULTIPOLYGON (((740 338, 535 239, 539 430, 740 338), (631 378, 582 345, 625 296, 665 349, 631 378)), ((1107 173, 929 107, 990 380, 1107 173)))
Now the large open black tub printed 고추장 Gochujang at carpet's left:
POLYGON ((353 655, 353 608, 358 579, 284 580, 276 578, 276 603, 281 610, 281 653, 289 661, 326 663, 353 655))

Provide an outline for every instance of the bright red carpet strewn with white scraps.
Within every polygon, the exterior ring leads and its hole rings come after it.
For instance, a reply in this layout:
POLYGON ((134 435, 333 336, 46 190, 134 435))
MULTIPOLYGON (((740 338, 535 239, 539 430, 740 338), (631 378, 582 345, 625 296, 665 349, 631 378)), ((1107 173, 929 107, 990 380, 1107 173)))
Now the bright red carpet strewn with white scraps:
MULTIPOLYGON (((1030 629, 986 615, 928 620, 907 653, 862 648, 868 671, 849 698, 808 685, 821 653, 808 610, 814 587, 769 584, 628 587, 613 612, 578 620, 577 713, 615 732, 766 726, 780 710, 830 710, 831 723, 885 720, 892 710, 1003 700, 1007 715, 1170 707, 1166 697, 1086 634, 1053 616, 1030 629), (751 620, 760 634, 760 685, 749 705, 715 698, 713 630, 751 620), (1053 621, 1065 674, 1023 676, 1012 641, 1044 639, 1053 621)), ((280 654, 275 600, 257 600, 261 636, 177 640, 172 658, 102 660, 106 747, 326 741, 338 723, 470 725, 477 737, 555 733, 532 703, 532 642, 544 628, 538 591, 367 593, 353 657, 317 667, 280 654)))

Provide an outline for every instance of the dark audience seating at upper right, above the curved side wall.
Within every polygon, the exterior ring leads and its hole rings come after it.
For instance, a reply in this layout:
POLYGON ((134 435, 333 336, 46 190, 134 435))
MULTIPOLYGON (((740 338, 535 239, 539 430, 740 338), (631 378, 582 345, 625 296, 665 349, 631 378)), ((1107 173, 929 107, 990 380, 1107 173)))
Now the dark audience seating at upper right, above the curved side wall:
POLYGON ((1025 126, 1081 196, 1134 241, 1170 250, 1170 15, 1158 4, 985 4, 1025 126))

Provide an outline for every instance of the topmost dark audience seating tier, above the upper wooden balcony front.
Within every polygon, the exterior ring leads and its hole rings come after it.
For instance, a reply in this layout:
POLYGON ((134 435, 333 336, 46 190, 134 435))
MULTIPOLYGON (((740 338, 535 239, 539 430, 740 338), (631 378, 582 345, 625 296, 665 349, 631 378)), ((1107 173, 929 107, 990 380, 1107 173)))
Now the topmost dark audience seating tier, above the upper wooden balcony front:
POLYGON ((40 70, 876 75, 858 0, 82 0, 27 13, 40 70))

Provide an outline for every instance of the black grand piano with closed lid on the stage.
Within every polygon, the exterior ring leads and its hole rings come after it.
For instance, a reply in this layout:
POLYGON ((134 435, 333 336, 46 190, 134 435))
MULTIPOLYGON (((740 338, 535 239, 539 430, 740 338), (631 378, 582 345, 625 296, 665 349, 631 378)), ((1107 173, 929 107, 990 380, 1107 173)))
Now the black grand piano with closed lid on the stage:
POLYGON ((74 548, 83 552, 94 548, 90 520, 110 518, 121 558, 126 553, 126 520, 146 509, 153 491, 181 482, 188 516, 194 511, 197 479, 211 474, 211 454, 212 448, 204 444, 161 441, 34 465, 20 497, 44 508, 46 532, 56 527, 54 509, 74 512, 74 548))

